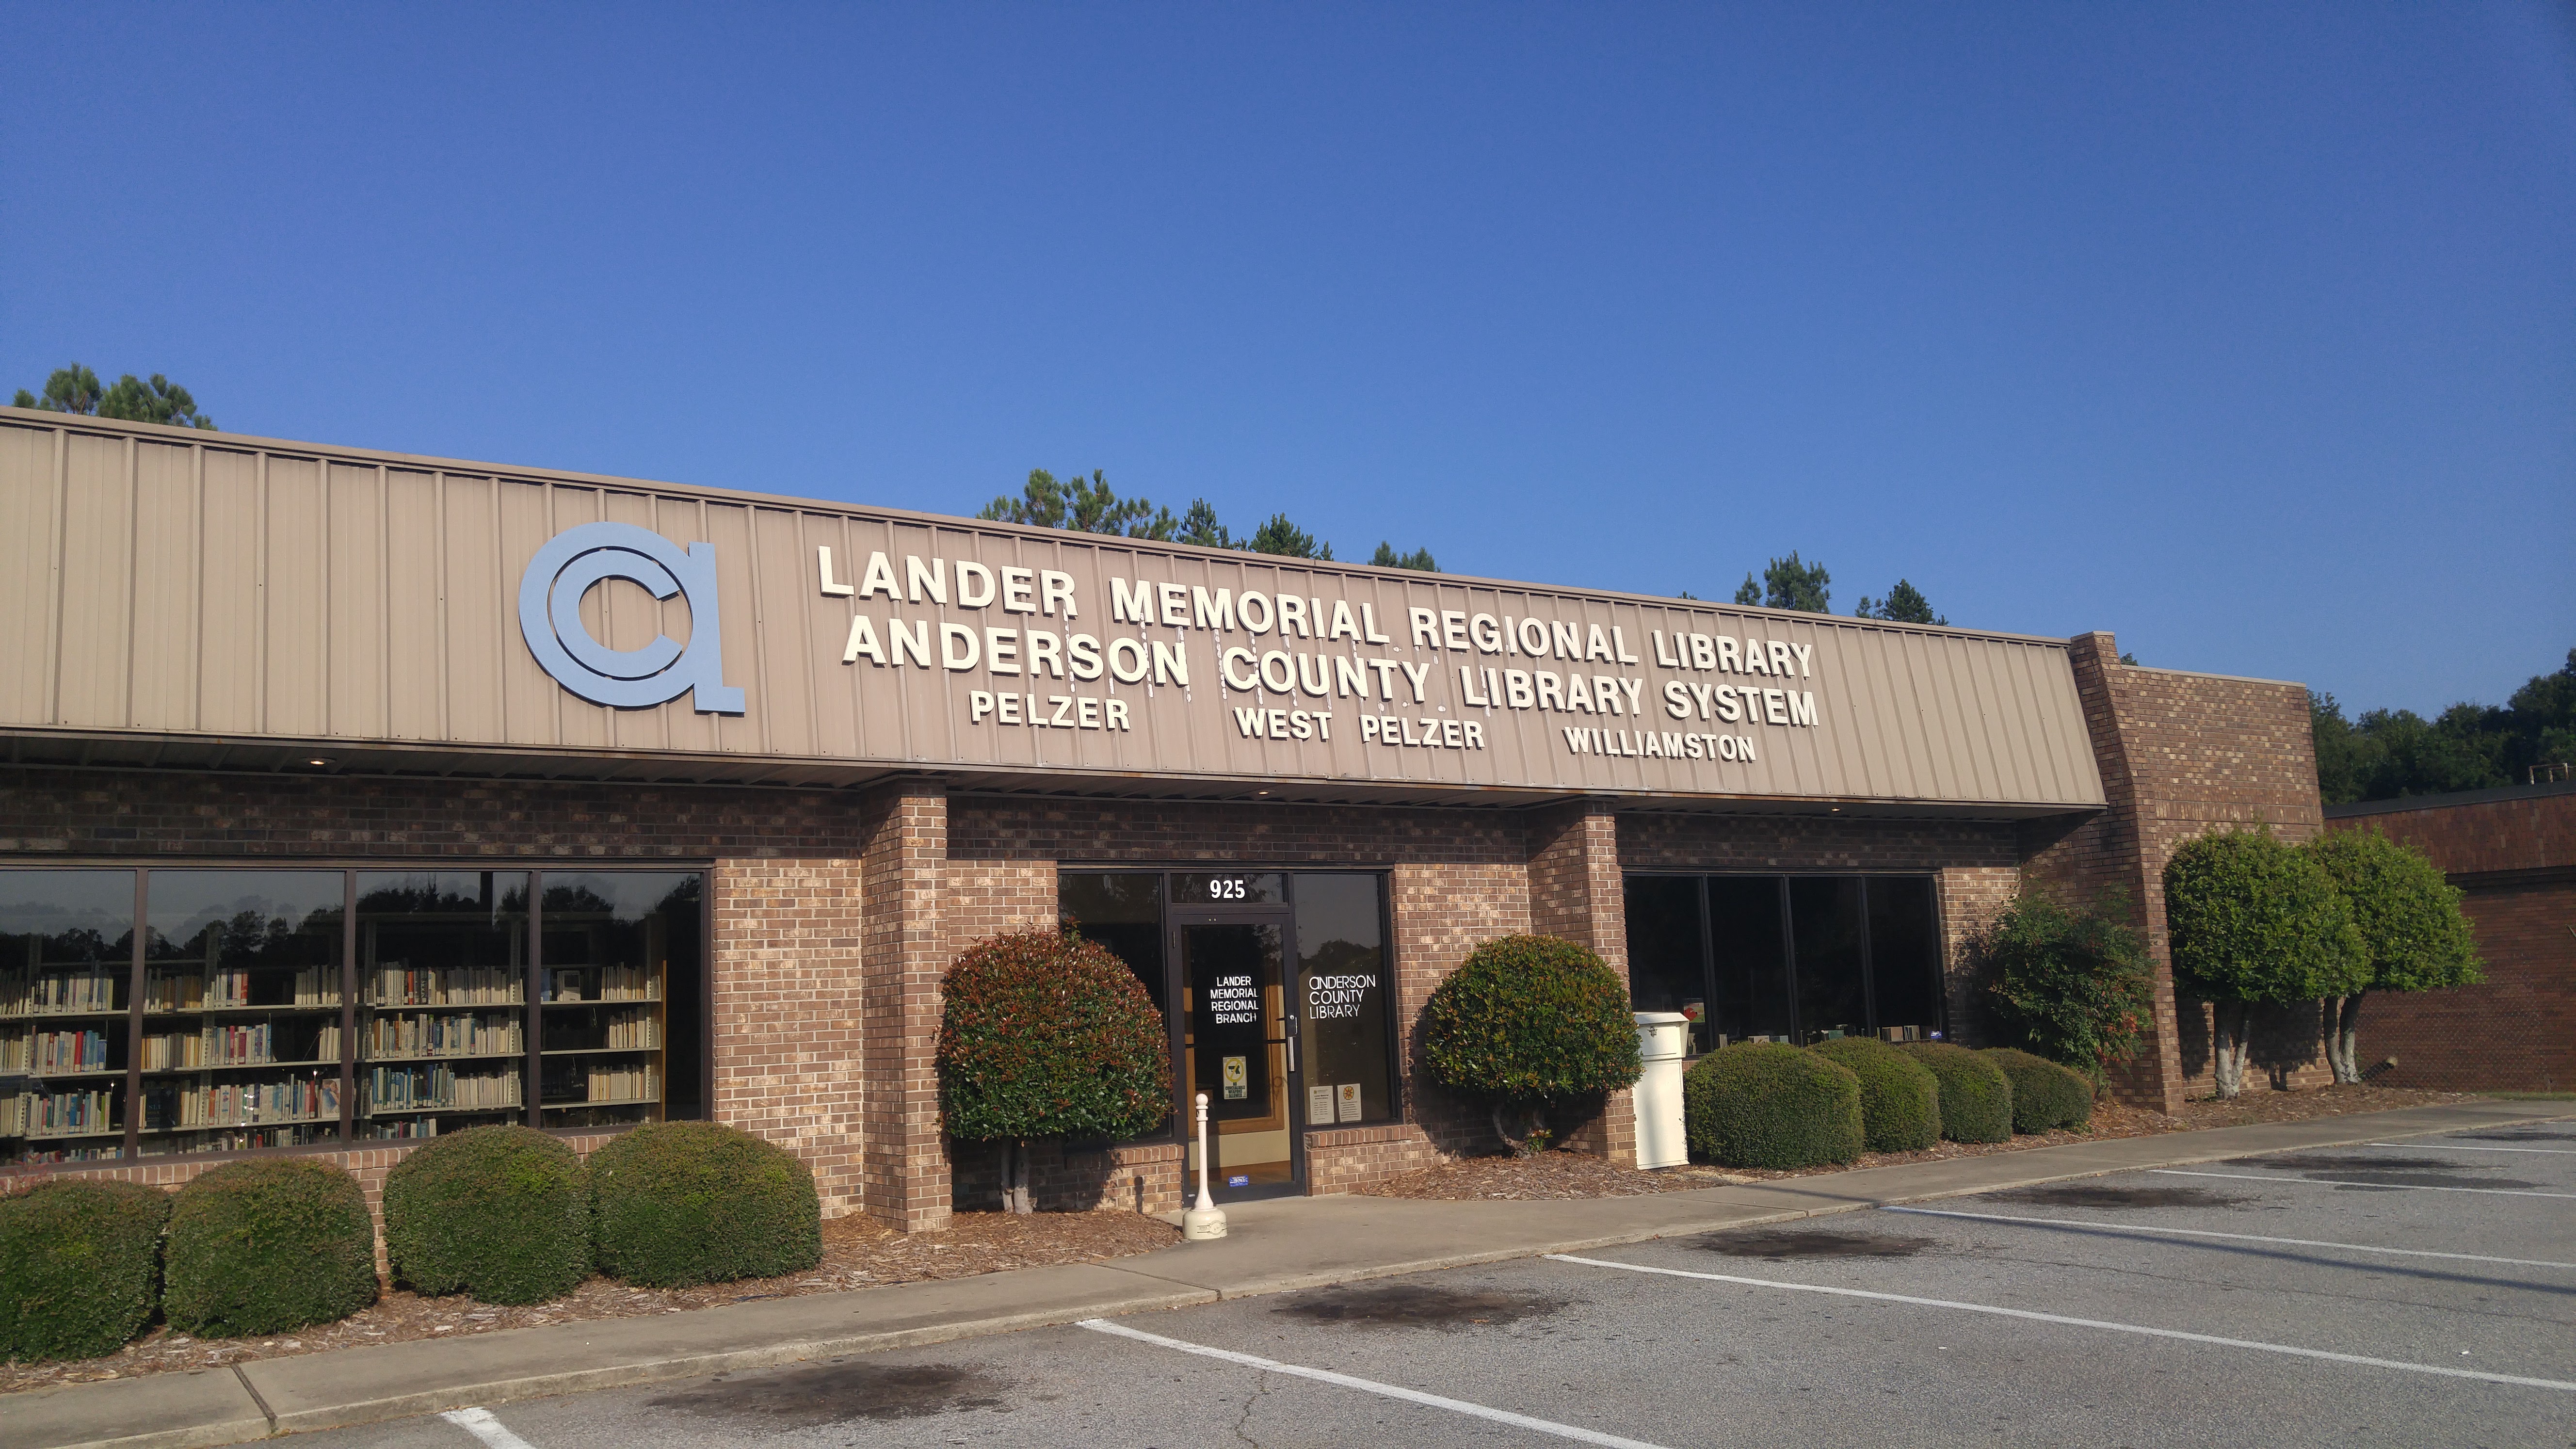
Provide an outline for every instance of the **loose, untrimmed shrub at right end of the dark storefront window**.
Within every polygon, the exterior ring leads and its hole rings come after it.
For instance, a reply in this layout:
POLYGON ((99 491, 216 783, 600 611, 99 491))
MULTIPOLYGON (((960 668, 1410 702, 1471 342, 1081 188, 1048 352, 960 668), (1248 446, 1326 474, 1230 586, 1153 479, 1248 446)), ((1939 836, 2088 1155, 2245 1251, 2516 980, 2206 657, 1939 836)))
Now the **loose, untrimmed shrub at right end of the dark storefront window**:
POLYGON ((2138 1057, 2154 975, 2123 892, 2069 910, 2025 884, 1984 946, 1986 990, 2017 1044, 2097 1083, 2138 1057))

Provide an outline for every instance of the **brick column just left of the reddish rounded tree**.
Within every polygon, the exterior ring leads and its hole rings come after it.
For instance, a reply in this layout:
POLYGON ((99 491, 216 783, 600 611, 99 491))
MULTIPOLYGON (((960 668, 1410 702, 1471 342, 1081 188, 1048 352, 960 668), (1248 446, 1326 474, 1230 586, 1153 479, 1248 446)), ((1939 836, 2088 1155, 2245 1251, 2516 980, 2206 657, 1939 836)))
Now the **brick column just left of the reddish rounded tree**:
POLYGON ((868 1217, 922 1232, 948 1225, 940 1134, 940 861, 948 792, 902 781, 860 804, 860 1049, 866 1060, 863 1201, 868 1217))

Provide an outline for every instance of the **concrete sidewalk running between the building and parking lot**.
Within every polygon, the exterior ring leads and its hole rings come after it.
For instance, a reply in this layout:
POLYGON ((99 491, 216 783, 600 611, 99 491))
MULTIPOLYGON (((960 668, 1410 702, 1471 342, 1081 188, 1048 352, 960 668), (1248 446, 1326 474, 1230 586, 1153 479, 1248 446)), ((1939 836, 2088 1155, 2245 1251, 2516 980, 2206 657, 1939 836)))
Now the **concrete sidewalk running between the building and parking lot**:
POLYGON ((1252 1201, 1226 1209, 1231 1238, 1221 1243, 1190 1243, 1113 1263, 343 1348, 260 1359, 237 1369, 0 1395, 0 1449, 242 1444, 304 1428, 940 1343, 1896 1201, 2558 1116, 2568 1116, 2561 1104, 2421 1106, 1625 1199, 1252 1201))

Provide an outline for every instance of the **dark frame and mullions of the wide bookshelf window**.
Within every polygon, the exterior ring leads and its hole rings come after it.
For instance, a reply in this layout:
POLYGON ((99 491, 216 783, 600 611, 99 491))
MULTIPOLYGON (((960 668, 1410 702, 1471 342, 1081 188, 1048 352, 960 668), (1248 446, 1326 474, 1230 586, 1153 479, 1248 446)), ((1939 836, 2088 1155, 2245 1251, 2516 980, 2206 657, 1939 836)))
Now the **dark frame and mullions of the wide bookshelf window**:
MULTIPOLYGON (((716 864, 706 859, 672 859, 672 861, 590 861, 590 859, 536 859, 536 856, 263 856, 263 859, 204 859, 204 856, 155 856, 149 864, 116 856, 88 856, 88 859, 49 859, 49 861, 0 861, 0 871, 8 874, 46 874, 46 871, 131 871, 134 874, 134 946, 126 964, 126 1075, 124 1075, 124 1111, 126 1127, 118 1137, 113 1158, 82 1158, 70 1163, 0 1163, 0 1176, 46 1176, 70 1173, 88 1168, 131 1168, 139 1163, 232 1163, 242 1158, 289 1158, 312 1152, 368 1152, 384 1147, 410 1147, 430 1142, 420 1140, 358 1140, 353 1137, 358 1124, 358 877, 361 874, 502 874, 526 871, 528 877, 528 913, 523 931, 528 933, 528 1006, 536 1008, 536 980, 544 969, 544 931, 546 931, 546 871, 556 874, 696 874, 698 877, 698 1104, 701 1116, 714 1111, 716 1101, 716 864), (325 1142, 296 1142, 291 1147, 234 1147, 222 1152, 142 1152, 142 1031, 144 1031, 144 969, 149 954, 149 908, 152 908, 152 874, 155 871, 340 871, 340 1124, 337 1134, 325 1142)), ((520 1075, 526 1098, 526 1114, 515 1122, 520 1127, 533 1127, 549 1137, 598 1137, 613 1132, 629 1132, 634 1124, 618 1127, 546 1127, 544 1124, 544 1083, 541 1073, 541 1034, 528 1036, 528 1049, 520 1055, 520 1075)), ((665 1070, 667 1070, 665 1047, 665 1070)), ((665 1078, 667 1080, 667 1078, 665 1078)), ((667 1096, 667 1093, 665 1093, 667 1096)), ((665 1119, 667 1104, 665 1104, 665 1119)))

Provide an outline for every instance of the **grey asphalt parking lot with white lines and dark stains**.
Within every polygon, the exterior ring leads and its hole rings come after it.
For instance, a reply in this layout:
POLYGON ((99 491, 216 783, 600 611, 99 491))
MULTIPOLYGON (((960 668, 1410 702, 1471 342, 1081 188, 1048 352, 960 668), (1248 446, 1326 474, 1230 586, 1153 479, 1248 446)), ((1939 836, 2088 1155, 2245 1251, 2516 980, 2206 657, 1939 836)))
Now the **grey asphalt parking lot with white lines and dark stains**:
POLYGON ((2576 1124, 2120 1173, 304 1441, 2324 1439, 2576 1446, 2576 1124))

